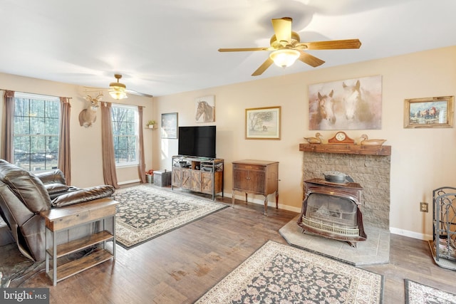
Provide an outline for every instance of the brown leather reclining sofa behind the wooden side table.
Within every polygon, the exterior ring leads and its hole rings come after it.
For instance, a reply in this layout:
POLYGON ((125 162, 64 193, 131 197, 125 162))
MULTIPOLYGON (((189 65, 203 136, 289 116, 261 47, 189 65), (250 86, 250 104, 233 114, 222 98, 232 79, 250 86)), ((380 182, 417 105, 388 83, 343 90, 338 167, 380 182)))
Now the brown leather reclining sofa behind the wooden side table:
MULTIPOLYGON (((63 173, 31 174, 0 159, 0 216, 11 229, 19 251, 33 261, 46 258, 46 234, 41 211, 65 208, 113 196, 108 185, 78 189, 66 184, 63 173)), ((96 227, 75 227, 58 236, 58 243, 88 235, 96 227)))

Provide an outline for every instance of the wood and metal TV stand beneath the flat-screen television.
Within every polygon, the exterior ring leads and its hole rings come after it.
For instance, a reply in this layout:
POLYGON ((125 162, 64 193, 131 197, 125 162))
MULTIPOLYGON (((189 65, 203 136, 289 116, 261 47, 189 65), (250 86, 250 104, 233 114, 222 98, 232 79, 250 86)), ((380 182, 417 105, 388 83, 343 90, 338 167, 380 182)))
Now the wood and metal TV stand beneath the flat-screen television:
POLYGON ((223 197, 223 159, 207 157, 187 157, 175 155, 172 157, 171 189, 181 189, 211 194, 222 192, 223 197))

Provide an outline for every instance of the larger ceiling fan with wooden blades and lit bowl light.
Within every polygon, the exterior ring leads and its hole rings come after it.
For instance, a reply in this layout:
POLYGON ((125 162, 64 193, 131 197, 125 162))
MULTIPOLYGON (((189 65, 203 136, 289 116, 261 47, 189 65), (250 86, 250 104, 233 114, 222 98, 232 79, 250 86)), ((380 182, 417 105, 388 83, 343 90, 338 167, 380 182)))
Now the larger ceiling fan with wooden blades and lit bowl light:
POLYGON ((252 76, 261 75, 272 63, 281 67, 290 66, 299 59, 314 68, 325 63, 319 58, 312 56, 304 50, 336 50, 343 48, 360 48, 361 42, 358 39, 314 41, 303 42, 299 40, 298 33, 291 31, 293 19, 284 17, 272 19, 274 35, 271 37, 269 47, 264 48, 219 48, 219 52, 243 52, 243 51, 272 51, 269 58, 254 71, 252 76))

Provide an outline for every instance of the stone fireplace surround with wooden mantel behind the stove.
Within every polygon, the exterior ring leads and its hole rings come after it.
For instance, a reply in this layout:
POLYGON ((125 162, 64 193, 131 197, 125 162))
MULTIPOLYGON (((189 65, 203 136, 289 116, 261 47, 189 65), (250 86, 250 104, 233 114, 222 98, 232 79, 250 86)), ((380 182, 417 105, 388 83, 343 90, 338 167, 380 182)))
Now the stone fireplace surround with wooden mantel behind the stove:
POLYGON ((299 151, 304 152, 303 195, 307 179, 324 178, 328 171, 348 174, 363 187, 363 223, 389 231, 390 146, 300 144, 299 151))

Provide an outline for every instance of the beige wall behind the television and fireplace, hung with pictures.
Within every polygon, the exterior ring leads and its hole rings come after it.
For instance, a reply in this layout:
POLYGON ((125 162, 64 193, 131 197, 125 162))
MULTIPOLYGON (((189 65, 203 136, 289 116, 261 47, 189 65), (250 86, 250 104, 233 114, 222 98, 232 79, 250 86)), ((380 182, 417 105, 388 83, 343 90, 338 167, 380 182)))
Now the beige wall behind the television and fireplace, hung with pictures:
MULTIPOLYGON (((303 155, 299 143, 315 134, 309 131, 308 85, 369 75, 382 75, 382 128, 346 132, 352 138, 367 133, 388 140, 385 145, 392 146, 390 230, 429 239, 432 189, 456 185, 456 129, 404 129, 404 99, 456 95, 456 46, 157 97, 154 118, 160 121, 161 113, 178 112, 180 126, 196 125, 195 98, 215 95, 215 122, 207 125, 217 125, 217 157, 225 159, 225 195, 231 195, 232 161, 275 160, 280 162, 279 208, 300 211, 303 155), (245 140, 245 109, 275 105, 282 109, 281 140, 245 140), (420 201, 430 203, 429 213, 419 211, 420 201)), ((177 140, 163 140, 159 130, 152 132, 153 168, 171 169, 177 140)), ((328 140, 335 131, 321 133, 328 140)), ((261 202, 261 197, 256 201, 261 202)))

